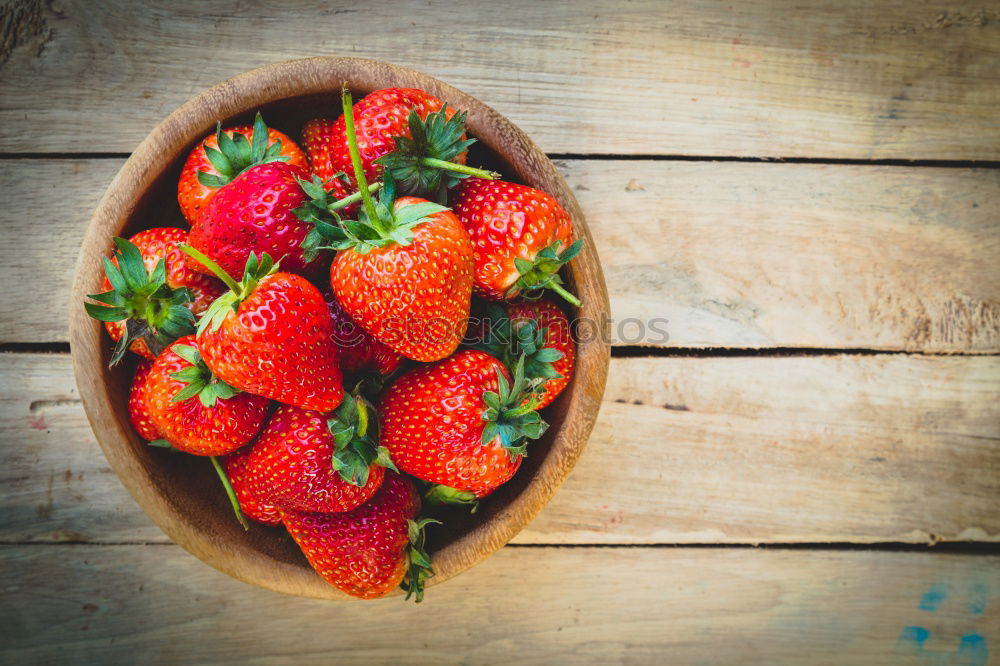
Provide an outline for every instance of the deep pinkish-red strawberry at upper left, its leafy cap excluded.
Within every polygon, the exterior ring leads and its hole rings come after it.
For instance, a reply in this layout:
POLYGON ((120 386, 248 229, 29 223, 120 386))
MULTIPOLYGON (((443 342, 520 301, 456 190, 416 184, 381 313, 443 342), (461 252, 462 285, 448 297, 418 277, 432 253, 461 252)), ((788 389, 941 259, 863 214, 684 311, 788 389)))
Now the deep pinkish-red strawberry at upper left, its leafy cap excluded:
MULTIPOLYGON (((294 213, 308 199, 298 183, 308 175, 282 162, 244 171, 222 187, 192 223, 191 245, 230 275, 243 273, 251 252, 282 257, 282 269, 291 273, 316 273, 318 258, 313 255, 307 261, 302 248, 312 225, 294 213)), ((192 266, 209 272, 197 262, 192 266)))

